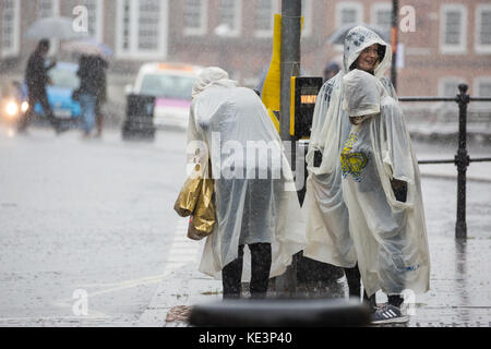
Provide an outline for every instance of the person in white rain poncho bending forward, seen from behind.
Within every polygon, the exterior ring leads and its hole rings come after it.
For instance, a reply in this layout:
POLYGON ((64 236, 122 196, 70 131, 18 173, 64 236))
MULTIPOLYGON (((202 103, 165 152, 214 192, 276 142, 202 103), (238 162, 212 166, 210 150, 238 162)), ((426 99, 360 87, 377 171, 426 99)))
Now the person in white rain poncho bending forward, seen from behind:
POLYGON ((192 96, 188 154, 202 165, 211 159, 217 220, 200 272, 223 278, 224 298, 240 297, 241 276, 248 280, 251 274, 251 296, 262 298, 268 278, 283 274, 304 246, 291 169, 252 89, 239 87, 219 68, 206 68, 192 96))

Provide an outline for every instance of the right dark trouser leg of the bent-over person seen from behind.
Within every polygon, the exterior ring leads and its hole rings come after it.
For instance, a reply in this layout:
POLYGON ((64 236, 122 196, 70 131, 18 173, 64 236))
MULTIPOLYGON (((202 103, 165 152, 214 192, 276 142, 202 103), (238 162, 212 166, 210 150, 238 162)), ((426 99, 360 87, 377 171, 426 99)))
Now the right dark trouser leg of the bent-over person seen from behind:
POLYGON ((251 297, 265 298, 270 281, 272 252, 270 243, 253 243, 251 250, 251 297))

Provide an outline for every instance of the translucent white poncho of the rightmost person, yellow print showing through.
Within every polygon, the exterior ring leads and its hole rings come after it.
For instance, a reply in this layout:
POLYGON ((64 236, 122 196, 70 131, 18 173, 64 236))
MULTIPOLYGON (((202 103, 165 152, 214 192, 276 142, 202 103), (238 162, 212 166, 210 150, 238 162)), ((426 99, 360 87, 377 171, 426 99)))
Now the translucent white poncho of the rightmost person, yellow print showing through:
POLYGON ((379 80, 361 70, 344 77, 344 107, 364 120, 342 152, 343 193, 367 294, 426 292, 430 257, 418 161, 403 111, 379 80), (406 202, 391 181, 407 183, 406 202))

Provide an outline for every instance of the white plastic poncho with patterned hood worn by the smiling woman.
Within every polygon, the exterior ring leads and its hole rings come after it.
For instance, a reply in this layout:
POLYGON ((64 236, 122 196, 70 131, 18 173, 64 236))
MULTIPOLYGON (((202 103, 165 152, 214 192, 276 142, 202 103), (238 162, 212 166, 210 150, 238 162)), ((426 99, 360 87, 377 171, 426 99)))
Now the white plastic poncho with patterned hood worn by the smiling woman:
POLYGON ((307 219, 308 245, 303 255, 340 267, 354 267, 357 256, 349 234, 348 209, 343 198, 339 155, 350 125, 343 110, 343 76, 367 47, 385 47, 374 70, 388 94, 396 94, 383 74, 392 60, 391 47, 374 32, 357 26, 345 39, 343 70, 321 88, 312 120, 312 132, 307 154, 309 177, 302 210, 307 219), (314 153, 322 153, 322 164, 314 166, 314 153))

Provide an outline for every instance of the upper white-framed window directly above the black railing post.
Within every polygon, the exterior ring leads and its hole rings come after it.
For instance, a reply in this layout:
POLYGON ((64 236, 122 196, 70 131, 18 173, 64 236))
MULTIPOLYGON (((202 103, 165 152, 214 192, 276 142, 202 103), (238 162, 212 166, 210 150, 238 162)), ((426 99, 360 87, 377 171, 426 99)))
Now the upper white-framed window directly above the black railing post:
POLYGON ((467 36, 467 9, 462 4, 442 5, 440 23, 442 53, 464 53, 467 36))

